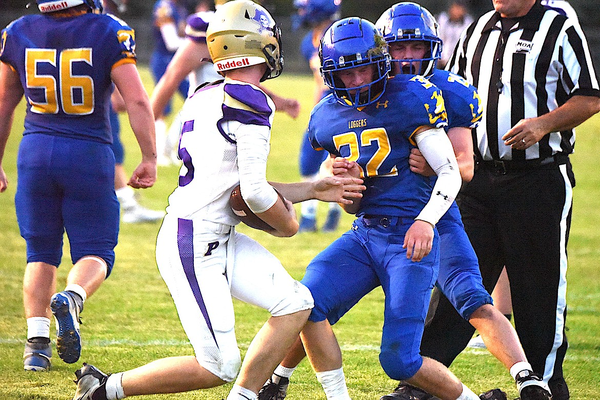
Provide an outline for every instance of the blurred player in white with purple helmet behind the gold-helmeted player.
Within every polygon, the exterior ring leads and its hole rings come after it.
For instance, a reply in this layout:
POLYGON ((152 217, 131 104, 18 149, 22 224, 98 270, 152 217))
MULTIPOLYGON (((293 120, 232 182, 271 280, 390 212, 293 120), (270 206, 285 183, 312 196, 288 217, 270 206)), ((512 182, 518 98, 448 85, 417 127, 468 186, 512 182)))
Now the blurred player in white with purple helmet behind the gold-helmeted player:
MULTIPOLYGON (((225 3, 226 1, 224 0, 217 0, 215 1, 215 8, 219 8, 225 3)), ((208 53, 208 47, 206 46, 206 28, 208 27, 208 23, 211 22, 214 11, 208 10, 206 2, 200 2, 199 6, 202 11, 197 11, 188 17, 187 25, 185 26, 185 40, 169 62, 166 72, 152 92, 152 109, 154 110, 154 118, 157 120, 163 118, 164 107, 186 77, 190 81, 189 96, 193 95, 196 88, 203 83, 223 79, 215 71, 208 53)), ((263 86, 260 86, 260 88, 271 97, 277 111, 285 112, 291 118, 298 117, 300 112, 300 103, 298 103, 298 100, 278 96, 263 86)), ((164 151, 166 157, 173 164, 181 164, 177 154, 180 132, 181 119, 178 115, 169 128, 164 151)))

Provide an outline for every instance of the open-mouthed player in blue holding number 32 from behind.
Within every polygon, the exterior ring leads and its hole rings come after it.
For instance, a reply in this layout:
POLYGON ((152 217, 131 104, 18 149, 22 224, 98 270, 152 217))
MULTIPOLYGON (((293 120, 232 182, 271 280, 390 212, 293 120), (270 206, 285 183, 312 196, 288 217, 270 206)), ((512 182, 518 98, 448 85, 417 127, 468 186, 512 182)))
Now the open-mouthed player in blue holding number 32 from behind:
MULTIPOLYGON (((386 10, 376 26, 389 45, 392 74, 421 74, 442 90, 448 113, 446 133, 454 147, 463 181, 469 182, 473 177, 471 130, 481 120, 481 100, 476 89, 466 80, 436 69, 442 50, 436 20, 421 5, 401 2, 386 10)), ((436 179, 419 149, 412 149, 409 163, 413 172, 436 179)), ((440 234, 441 258, 431 309, 434 311, 439 301, 451 302, 458 313, 479 330, 488 349, 511 371, 513 378, 517 379, 519 374, 516 382, 521 399, 548 398, 548 387, 533 375, 517 332, 492 305, 491 297, 482 284, 478 260, 464 231, 456 203, 452 204, 436 226, 440 234), (521 374, 521 371, 526 372, 521 374)), ((431 353, 428 348, 439 343, 429 333, 434 331, 442 332, 441 329, 425 328, 421 344, 421 352, 425 356, 431 353)), ((384 398, 393 400, 398 393, 423 396, 418 388, 400 383, 394 393, 384 398)))

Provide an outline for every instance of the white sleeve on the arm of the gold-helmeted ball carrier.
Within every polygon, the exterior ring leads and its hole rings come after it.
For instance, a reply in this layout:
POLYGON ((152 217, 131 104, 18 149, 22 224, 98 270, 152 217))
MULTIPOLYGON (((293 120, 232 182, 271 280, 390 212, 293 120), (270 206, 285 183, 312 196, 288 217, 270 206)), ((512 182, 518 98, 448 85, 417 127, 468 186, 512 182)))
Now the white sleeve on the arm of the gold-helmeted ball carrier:
POLYGON ((275 189, 266 181, 270 135, 269 127, 259 125, 239 124, 235 131, 238 143, 239 188, 242 198, 256 214, 271 208, 278 197, 275 189))

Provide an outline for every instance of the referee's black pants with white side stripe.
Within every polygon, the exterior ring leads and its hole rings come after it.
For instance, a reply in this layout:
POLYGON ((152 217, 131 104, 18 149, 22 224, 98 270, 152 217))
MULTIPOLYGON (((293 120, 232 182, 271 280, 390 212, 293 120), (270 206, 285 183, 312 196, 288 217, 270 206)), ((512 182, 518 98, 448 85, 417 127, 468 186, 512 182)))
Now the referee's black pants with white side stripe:
MULTIPOLYGON (((548 381, 554 400, 569 398, 562 362, 574 179, 567 167, 552 163, 504 173, 479 166, 457 199, 489 293, 506 266, 515 329, 533 371, 548 381)), ((474 331, 436 289, 421 354, 449 366, 474 331)))

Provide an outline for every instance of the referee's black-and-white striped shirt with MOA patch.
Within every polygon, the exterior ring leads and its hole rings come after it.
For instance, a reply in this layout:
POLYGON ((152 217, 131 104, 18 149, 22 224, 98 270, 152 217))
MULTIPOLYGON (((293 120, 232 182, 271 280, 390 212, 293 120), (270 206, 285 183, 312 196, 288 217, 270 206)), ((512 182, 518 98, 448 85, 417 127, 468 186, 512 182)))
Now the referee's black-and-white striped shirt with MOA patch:
POLYGON ((586 38, 577 21, 539 1, 511 29, 485 14, 463 32, 448 70, 475 86, 484 117, 473 130, 479 160, 545 160, 571 154, 575 131, 552 132, 525 150, 502 136, 524 118, 556 109, 573 95, 600 97, 586 38), (507 28, 507 27, 505 27, 507 28))

